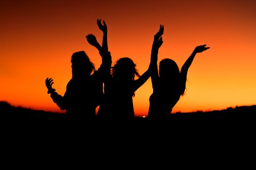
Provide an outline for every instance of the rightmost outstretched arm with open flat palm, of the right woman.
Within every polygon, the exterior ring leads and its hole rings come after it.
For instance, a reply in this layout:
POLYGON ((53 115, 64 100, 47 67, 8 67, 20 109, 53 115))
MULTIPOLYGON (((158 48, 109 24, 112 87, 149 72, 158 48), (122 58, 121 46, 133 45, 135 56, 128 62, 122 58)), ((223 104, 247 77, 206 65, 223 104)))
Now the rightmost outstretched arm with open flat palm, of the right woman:
POLYGON ((183 83, 183 84, 186 83, 188 69, 191 66, 191 64, 193 62, 193 59, 195 58, 196 54, 204 52, 207 49, 209 49, 209 47, 206 47, 206 44, 196 46, 196 48, 193 50, 191 56, 188 57, 187 61, 185 61, 184 65, 181 67, 181 70, 180 70, 181 83, 183 83))

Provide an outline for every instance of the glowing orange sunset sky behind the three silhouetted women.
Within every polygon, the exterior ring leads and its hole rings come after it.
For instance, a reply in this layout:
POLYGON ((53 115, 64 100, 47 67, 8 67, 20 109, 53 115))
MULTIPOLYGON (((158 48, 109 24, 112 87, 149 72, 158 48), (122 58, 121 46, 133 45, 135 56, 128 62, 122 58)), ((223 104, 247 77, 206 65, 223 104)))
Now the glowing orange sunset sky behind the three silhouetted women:
MULTIPOLYGON (((85 39, 102 41, 96 20, 108 25, 113 61, 130 57, 146 71, 154 34, 164 25, 159 61, 171 58, 181 68, 197 45, 188 70, 185 95, 173 112, 211 111, 256 104, 256 1, 49 1, 0 2, 0 101, 61 112, 44 80, 64 95, 71 79, 71 55, 84 50, 96 68, 101 57, 85 39)), ((146 116, 151 80, 134 97, 136 116, 146 116)))

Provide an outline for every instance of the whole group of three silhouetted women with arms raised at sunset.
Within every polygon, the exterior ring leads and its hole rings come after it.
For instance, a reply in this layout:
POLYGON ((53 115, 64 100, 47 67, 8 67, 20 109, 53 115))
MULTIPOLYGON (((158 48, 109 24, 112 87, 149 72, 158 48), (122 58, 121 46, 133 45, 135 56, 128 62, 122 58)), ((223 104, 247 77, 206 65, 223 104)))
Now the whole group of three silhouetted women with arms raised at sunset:
POLYGON ((153 92, 150 96, 149 118, 170 117, 172 108, 184 95, 188 69, 197 53, 201 53, 209 47, 199 45, 193 50, 184 65, 179 67, 172 59, 165 58, 159 62, 158 50, 163 44, 162 35, 164 26, 160 25, 159 31, 154 35, 151 49, 150 65, 148 69, 139 75, 136 64, 129 57, 117 59, 112 67, 112 56, 108 50, 107 32, 105 21, 97 19, 98 28, 103 32, 102 46, 97 42, 93 34, 86 36, 90 45, 94 46, 102 63, 96 71, 89 57, 84 51, 72 55, 72 79, 67 84, 64 96, 57 94, 52 88, 53 79, 46 79, 48 94, 51 94, 61 110, 66 110, 68 115, 80 118, 134 118, 133 97, 151 76, 153 92), (138 79, 135 79, 135 77, 138 79), (103 86, 104 84, 104 86, 103 86), (104 89, 103 89, 104 88, 104 89), (103 92, 104 91, 104 92, 103 92))

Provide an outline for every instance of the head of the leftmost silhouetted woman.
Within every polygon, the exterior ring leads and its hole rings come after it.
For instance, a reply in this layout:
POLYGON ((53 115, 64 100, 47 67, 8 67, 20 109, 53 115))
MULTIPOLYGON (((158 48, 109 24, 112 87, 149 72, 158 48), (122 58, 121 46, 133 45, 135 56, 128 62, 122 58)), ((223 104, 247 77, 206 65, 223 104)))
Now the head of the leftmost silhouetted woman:
POLYGON ((95 70, 94 64, 84 51, 73 53, 71 56, 72 75, 90 75, 95 70))

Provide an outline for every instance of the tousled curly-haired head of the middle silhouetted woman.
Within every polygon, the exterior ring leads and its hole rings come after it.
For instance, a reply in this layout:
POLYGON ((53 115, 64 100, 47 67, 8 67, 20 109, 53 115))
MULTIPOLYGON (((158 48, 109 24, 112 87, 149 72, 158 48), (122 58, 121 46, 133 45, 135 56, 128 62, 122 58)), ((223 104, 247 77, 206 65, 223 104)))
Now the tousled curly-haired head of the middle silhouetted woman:
POLYGON ((117 60, 112 68, 113 78, 118 80, 134 80, 135 75, 140 76, 132 59, 123 57, 117 60))

